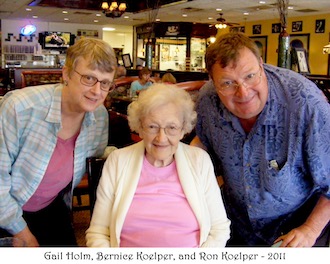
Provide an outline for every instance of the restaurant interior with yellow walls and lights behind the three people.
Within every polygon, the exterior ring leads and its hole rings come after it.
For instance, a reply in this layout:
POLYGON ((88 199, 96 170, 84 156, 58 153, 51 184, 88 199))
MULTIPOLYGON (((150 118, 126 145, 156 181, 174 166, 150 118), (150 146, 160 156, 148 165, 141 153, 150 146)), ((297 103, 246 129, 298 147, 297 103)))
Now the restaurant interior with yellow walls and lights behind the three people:
MULTIPOLYGON (((129 87, 142 65, 151 68, 155 77, 171 71, 178 86, 196 98, 208 80, 205 51, 218 35, 243 32, 254 39, 265 63, 279 65, 283 36, 279 2, 283 1, 0 1, 0 96, 14 89, 60 82, 66 49, 79 38, 91 37, 108 42, 118 63, 127 69, 127 78, 116 80, 117 86, 129 87), (50 43, 53 33, 65 44, 50 43)), ((329 1, 287 2, 285 36, 290 45, 284 67, 314 81, 330 100, 329 1), (299 52, 303 63, 297 59, 299 52)), ((109 145, 122 147, 139 140, 127 125, 130 102, 127 96, 119 96, 106 105, 110 123, 115 124, 109 145)), ((97 164, 93 172, 88 162, 88 173, 98 173, 102 165, 97 164)), ((74 200, 81 246, 90 219, 89 197, 93 197, 88 183, 86 177, 74 200)))

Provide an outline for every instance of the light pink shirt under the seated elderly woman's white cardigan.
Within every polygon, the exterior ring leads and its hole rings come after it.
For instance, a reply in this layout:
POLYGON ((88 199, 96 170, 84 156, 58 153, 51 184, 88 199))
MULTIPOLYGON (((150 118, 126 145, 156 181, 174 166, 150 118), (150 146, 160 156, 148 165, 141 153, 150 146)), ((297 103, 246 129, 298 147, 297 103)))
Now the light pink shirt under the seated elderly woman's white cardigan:
POLYGON ((156 168, 144 159, 121 232, 121 247, 198 247, 199 225, 176 164, 156 168))

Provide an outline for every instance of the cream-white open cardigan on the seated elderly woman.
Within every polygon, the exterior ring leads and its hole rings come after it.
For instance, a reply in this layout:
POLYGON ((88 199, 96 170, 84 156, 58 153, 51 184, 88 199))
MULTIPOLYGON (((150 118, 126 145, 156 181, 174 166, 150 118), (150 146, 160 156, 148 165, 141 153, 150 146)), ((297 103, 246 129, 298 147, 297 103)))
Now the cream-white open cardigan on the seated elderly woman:
MULTIPOLYGON (((142 140, 113 151, 107 158, 92 220, 86 231, 88 247, 119 247, 144 153, 142 140)), ((200 247, 224 247, 230 235, 230 221, 209 155, 200 148, 180 142, 174 158, 183 191, 200 226, 200 247)))

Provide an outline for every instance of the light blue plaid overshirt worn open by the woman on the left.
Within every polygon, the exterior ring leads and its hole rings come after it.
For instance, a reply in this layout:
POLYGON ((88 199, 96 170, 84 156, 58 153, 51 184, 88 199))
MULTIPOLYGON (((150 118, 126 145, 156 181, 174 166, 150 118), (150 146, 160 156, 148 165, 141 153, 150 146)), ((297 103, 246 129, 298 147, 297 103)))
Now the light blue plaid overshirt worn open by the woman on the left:
MULTIPOLYGON (((25 228, 22 206, 38 188, 61 128, 61 84, 7 93, 0 103, 0 227, 12 234, 25 228)), ((102 105, 85 114, 74 149, 71 190, 86 168, 86 157, 102 155, 108 141, 108 113, 102 105)))

